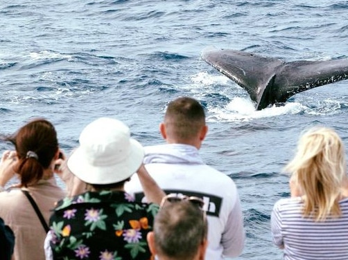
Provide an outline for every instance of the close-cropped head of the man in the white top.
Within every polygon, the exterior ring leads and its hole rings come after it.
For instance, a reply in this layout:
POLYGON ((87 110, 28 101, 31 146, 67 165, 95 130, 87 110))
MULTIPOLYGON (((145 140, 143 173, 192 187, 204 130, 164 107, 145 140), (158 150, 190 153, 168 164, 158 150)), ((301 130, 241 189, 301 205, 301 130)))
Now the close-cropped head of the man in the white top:
POLYGON ((205 111, 197 100, 178 97, 168 104, 159 128, 168 143, 193 145, 199 149, 207 134, 205 111))

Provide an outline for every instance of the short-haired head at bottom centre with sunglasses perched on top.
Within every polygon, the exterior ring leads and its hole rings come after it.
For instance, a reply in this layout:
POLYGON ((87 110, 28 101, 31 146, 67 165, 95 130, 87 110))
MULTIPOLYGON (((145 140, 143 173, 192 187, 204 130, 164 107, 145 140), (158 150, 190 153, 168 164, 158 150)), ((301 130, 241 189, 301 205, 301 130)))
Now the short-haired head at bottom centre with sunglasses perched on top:
POLYGON ((189 201, 167 203, 155 217, 148 244, 160 260, 204 259, 207 248, 204 212, 189 201))

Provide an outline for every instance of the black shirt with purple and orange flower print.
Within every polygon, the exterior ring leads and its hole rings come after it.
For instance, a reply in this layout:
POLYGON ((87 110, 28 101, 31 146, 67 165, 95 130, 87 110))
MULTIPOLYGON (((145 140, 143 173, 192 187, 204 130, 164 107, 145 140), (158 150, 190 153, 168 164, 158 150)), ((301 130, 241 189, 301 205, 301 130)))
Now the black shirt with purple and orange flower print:
POLYGON ((58 202, 50 219, 53 259, 150 259, 146 235, 158 205, 125 192, 85 192, 58 202))

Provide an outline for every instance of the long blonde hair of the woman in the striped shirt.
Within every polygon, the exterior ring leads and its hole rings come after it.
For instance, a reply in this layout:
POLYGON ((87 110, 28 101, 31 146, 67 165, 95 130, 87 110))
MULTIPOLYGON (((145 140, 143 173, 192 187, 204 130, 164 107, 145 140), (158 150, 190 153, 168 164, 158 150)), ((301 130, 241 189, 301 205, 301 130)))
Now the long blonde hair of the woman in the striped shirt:
POLYGON ((341 214, 338 203, 346 178, 345 148, 338 134, 314 127, 299 139, 295 158, 285 171, 293 174, 304 198, 303 216, 325 221, 341 214))

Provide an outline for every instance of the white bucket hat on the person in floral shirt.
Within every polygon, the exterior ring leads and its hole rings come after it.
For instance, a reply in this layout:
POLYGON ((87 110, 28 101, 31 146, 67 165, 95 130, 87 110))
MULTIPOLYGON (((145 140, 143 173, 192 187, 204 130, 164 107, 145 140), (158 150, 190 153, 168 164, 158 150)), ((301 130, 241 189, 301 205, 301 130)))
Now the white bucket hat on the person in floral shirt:
POLYGON ((80 146, 67 165, 90 184, 118 183, 132 176, 143 160, 143 147, 130 138, 130 129, 113 118, 98 118, 80 133, 80 146))

